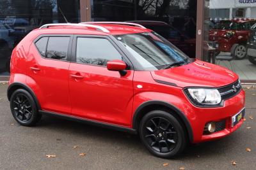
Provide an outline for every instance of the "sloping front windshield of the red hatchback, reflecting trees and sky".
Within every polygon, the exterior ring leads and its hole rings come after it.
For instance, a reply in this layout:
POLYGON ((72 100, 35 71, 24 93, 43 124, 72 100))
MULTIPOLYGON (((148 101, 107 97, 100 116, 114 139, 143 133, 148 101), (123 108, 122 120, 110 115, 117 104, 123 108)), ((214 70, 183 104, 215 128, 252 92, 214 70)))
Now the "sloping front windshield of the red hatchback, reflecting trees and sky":
POLYGON ((145 70, 188 64, 188 56, 156 32, 115 36, 145 70))

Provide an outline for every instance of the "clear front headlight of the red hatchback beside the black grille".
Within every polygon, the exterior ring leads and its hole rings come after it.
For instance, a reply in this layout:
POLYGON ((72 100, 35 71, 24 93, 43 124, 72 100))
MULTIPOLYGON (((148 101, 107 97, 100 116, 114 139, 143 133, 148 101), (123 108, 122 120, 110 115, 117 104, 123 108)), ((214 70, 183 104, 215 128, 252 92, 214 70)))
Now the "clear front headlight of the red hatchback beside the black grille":
POLYGON ((200 104, 214 105, 221 103, 220 92, 217 89, 188 89, 190 96, 200 104))

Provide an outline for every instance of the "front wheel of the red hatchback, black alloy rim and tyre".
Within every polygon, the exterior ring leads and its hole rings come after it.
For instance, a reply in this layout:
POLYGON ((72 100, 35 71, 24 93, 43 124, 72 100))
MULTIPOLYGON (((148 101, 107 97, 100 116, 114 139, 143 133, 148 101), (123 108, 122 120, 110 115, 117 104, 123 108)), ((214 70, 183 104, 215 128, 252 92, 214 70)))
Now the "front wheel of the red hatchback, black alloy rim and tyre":
POLYGON ((179 155, 188 143, 179 120, 161 110, 150 111, 142 118, 140 138, 149 152, 162 158, 179 155))

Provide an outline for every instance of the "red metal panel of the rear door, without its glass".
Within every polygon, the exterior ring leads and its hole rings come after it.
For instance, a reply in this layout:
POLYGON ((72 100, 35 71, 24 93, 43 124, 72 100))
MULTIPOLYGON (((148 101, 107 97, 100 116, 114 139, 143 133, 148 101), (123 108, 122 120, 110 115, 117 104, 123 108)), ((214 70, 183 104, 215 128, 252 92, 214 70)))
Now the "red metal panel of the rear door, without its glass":
POLYGON ((35 44, 31 44, 28 55, 26 83, 36 84, 40 92, 38 101, 42 109, 60 113, 70 113, 70 96, 68 89, 68 67, 70 62, 49 60, 41 57, 35 44), (40 69, 38 71, 33 68, 40 69), (52 93, 54 92, 54 93, 52 93))

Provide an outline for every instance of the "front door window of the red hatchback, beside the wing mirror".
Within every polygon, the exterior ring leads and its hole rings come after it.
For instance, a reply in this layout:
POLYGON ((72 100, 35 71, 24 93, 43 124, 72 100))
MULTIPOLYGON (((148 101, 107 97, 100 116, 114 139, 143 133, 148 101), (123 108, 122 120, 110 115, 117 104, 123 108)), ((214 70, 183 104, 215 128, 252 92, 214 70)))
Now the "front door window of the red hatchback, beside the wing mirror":
POLYGON ((106 66, 109 60, 122 60, 122 55, 104 38, 77 38, 76 62, 106 66))

